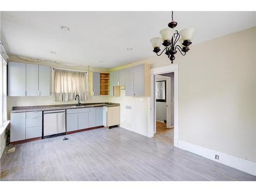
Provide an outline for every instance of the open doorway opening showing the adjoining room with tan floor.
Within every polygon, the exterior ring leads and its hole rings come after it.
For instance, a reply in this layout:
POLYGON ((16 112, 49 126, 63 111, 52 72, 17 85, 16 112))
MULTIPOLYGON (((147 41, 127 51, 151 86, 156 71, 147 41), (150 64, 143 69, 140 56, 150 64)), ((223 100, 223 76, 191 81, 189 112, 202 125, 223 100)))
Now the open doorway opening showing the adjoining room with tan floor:
POLYGON ((174 72, 155 75, 154 139, 174 145, 174 72))

